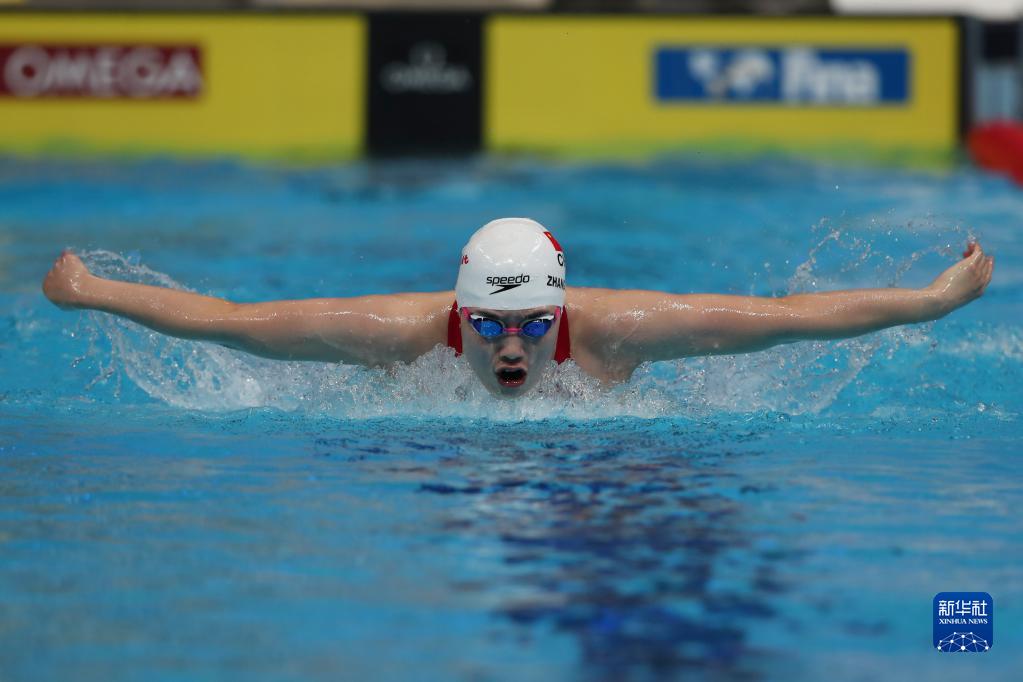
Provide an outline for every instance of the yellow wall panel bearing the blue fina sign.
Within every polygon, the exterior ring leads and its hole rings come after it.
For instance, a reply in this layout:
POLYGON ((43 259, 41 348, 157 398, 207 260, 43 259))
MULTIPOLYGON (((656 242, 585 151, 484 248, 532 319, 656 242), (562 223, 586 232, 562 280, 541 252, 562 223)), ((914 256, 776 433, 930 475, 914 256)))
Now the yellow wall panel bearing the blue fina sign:
POLYGON ((492 150, 958 140, 952 19, 495 15, 485 45, 492 150))

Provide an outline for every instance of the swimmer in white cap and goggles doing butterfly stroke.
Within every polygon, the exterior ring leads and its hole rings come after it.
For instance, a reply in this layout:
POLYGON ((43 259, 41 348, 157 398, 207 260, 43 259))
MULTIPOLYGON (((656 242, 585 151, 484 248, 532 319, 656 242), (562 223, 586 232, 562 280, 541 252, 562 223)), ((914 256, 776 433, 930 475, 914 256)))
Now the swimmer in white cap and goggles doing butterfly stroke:
POLYGON ((605 384, 643 362, 857 336, 944 317, 984 292, 994 259, 971 242, 926 287, 781 298, 570 287, 565 253, 539 223, 484 225, 461 252, 453 291, 237 304, 103 279, 69 252, 43 291, 63 309, 97 310, 179 338, 279 360, 366 366, 411 362, 447 345, 494 395, 535 387, 572 359, 605 384), (571 319, 571 324, 570 324, 571 319))

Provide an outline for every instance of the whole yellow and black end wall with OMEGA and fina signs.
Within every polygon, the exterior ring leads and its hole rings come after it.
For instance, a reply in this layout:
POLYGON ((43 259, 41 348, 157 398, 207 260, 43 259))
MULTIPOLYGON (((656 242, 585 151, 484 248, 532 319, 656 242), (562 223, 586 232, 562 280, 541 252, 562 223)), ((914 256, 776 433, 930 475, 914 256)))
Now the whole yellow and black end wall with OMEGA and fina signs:
POLYGON ((0 149, 947 152, 951 18, 0 13, 0 149))

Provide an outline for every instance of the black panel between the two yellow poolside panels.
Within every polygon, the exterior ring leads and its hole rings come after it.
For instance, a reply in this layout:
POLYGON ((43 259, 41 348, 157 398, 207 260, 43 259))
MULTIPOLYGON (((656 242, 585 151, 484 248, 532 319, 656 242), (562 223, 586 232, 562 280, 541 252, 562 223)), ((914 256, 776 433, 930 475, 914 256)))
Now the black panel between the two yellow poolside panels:
POLYGON ((370 14, 369 152, 478 151, 481 54, 478 14, 370 14))

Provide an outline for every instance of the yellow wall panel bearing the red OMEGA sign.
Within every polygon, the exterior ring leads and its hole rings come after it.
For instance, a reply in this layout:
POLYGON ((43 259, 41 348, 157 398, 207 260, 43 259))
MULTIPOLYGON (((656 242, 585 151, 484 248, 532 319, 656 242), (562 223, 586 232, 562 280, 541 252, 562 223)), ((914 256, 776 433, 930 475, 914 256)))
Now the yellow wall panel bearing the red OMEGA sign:
POLYGON ((359 15, 8 13, 0 149, 360 153, 359 15))

